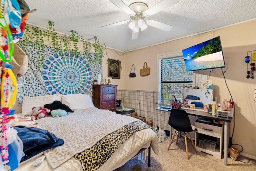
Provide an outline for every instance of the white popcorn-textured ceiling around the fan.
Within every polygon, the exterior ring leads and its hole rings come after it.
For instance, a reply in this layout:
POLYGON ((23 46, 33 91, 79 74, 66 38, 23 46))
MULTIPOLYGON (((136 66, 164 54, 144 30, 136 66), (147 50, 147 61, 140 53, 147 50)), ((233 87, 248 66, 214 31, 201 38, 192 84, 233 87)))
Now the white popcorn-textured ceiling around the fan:
MULTIPOLYGON (((127 6, 144 2, 148 8, 161 0, 123 0, 127 6)), ((173 26, 170 32, 148 26, 131 40, 128 23, 112 28, 108 24, 130 20, 130 16, 109 0, 26 0, 30 10, 27 23, 46 28, 48 20, 61 33, 78 32, 84 39, 97 36, 100 44, 127 52, 176 38, 256 18, 256 0, 180 0, 146 19, 173 26)))

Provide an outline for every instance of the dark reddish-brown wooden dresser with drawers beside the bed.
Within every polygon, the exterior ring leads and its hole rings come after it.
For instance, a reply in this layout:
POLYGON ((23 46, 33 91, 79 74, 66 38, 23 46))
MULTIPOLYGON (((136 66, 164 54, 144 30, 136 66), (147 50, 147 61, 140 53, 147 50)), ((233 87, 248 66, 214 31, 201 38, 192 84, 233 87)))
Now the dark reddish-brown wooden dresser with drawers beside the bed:
POLYGON ((116 111, 117 85, 92 85, 92 102, 99 109, 116 111))

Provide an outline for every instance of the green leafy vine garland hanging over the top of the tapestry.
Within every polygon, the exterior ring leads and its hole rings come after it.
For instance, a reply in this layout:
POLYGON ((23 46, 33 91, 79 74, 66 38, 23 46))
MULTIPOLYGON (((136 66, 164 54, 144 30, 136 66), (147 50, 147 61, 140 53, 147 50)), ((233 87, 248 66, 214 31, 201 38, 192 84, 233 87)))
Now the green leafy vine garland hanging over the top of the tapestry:
POLYGON ((88 39, 88 41, 94 41, 94 43, 86 41, 82 36, 74 30, 71 30, 71 35, 62 36, 54 29, 54 22, 48 21, 46 30, 39 29, 38 27, 25 26, 25 34, 23 35, 21 42, 25 45, 32 45, 37 49, 37 54, 40 58, 38 70, 40 70, 44 62, 44 52, 46 42, 54 48, 56 53, 72 52, 77 58, 81 53, 86 54, 88 63, 91 64, 102 64, 102 58, 104 54, 107 55, 106 43, 101 45, 97 36, 88 39), (82 51, 78 49, 78 44, 82 42, 82 51), (95 58, 90 58, 90 50, 94 48, 95 58))

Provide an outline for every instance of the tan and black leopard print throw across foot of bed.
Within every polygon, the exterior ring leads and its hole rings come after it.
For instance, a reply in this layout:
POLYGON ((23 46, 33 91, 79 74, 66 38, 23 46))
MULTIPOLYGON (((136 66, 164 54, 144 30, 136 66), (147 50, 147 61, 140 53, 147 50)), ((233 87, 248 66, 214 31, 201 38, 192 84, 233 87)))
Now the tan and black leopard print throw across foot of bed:
POLYGON ((98 141, 92 148, 76 154, 74 157, 80 161, 84 171, 95 171, 102 166, 111 155, 136 131, 151 128, 142 121, 125 125, 98 141))

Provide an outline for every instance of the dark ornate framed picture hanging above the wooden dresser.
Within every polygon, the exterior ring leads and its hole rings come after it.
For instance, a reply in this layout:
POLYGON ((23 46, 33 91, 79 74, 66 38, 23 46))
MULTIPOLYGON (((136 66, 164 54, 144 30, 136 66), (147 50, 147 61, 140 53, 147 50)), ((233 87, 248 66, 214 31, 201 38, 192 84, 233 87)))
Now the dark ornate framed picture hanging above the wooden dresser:
POLYGON ((108 77, 120 79, 120 60, 108 59, 108 77))

